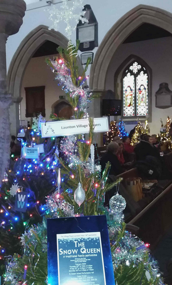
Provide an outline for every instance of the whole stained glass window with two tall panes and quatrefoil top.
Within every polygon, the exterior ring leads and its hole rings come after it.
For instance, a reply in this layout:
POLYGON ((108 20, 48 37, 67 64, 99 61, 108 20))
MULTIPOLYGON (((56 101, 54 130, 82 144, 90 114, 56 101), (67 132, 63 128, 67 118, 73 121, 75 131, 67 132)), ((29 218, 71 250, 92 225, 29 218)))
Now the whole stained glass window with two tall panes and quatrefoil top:
POLYGON ((148 115, 148 74, 136 61, 123 74, 123 115, 148 115))

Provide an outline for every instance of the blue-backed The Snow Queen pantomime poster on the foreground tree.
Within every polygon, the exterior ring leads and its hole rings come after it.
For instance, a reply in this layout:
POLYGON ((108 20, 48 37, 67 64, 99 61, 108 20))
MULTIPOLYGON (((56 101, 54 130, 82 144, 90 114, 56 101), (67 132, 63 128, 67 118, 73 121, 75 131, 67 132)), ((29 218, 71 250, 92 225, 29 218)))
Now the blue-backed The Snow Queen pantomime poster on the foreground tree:
POLYGON ((105 215, 47 219, 49 285, 115 285, 105 215))

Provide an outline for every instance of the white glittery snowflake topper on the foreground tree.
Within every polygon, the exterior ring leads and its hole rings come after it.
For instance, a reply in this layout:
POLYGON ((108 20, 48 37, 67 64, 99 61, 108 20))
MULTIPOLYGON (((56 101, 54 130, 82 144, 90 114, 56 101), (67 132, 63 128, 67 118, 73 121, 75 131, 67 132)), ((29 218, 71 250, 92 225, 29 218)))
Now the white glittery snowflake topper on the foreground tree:
POLYGON ((84 18, 86 11, 83 9, 83 0, 63 0, 62 5, 53 5, 48 9, 49 19, 53 24, 49 27, 49 30, 54 29, 55 31, 59 30, 59 23, 65 22, 66 28, 65 33, 68 35, 68 38, 71 38, 72 32, 76 29, 77 23, 81 20, 82 23, 88 23, 88 20, 84 18))

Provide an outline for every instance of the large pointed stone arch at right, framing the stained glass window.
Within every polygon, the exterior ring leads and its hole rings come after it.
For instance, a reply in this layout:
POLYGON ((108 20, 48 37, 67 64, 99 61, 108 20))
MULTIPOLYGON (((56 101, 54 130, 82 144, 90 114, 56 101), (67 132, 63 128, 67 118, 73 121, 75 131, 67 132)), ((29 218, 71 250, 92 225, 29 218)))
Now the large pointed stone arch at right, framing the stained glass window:
POLYGON ((104 90, 112 56, 120 44, 143 23, 156 25, 172 33, 172 13, 148 5, 138 5, 121 17, 103 38, 90 70, 89 87, 104 90))

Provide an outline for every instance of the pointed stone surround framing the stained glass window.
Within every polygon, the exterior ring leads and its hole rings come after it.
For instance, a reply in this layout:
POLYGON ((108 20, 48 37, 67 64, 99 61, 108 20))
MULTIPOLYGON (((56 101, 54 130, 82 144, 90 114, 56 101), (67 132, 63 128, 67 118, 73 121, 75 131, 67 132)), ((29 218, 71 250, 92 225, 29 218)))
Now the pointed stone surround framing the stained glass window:
MULTIPOLYGON (((114 91, 116 94, 118 94, 117 86, 118 86, 118 77, 120 76, 121 72, 123 72, 128 64, 130 64, 133 60, 139 62, 146 68, 146 71, 148 72, 148 112, 149 112, 149 122, 152 122, 152 68, 139 56, 135 54, 130 54, 125 60, 119 65, 117 68, 115 74, 114 74, 114 91)), ((121 74, 122 78, 122 74, 121 74)), ((121 79, 120 78, 120 79, 121 79)), ((121 99, 123 101, 123 89, 122 89, 122 82, 121 82, 121 99)), ((137 119, 137 115, 133 117, 137 119)), ((143 119, 144 117, 142 117, 143 119)), ((123 118, 124 119, 124 118, 123 118)))

